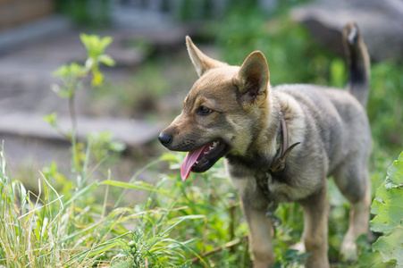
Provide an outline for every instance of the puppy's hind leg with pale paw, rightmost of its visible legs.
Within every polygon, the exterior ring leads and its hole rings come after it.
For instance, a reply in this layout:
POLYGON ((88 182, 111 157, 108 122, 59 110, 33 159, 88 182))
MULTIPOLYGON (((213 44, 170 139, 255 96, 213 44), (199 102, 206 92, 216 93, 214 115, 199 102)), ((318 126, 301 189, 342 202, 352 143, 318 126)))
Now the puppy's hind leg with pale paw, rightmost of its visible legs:
POLYGON ((366 166, 349 164, 335 174, 340 191, 350 203, 348 231, 343 239, 340 254, 347 261, 357 260, 356 239, 368 232, 371 192, 366 166))

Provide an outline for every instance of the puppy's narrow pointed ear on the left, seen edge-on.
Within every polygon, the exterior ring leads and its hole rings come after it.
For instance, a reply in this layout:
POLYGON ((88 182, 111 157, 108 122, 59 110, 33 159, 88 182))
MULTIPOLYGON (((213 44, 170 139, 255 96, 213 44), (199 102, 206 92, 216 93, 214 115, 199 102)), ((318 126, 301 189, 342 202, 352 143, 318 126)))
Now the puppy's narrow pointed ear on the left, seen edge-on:
POLYGON ((193 42, 189 38, 189 36, 186 36, 186 46, 188 47, 190 60, 192 61, 193 65, 195 65, 196 71, 197 71, 197 74, 199 77, 202 76, 206 71, 208 71, 210 69, 227 66, 226 63, 216 61, 216 60, 206 56, 206 54, 203 54, 197 48, 197 46, 195 46, 195 44, 193 44, 193 42))

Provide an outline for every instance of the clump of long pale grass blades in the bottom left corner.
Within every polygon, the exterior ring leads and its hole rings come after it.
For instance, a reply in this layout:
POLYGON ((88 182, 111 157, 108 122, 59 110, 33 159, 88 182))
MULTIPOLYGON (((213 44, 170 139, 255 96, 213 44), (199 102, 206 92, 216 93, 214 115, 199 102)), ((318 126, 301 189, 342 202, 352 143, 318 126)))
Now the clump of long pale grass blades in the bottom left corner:
MULTIPOLYGON (((88 215, 88 207, 78 205, 92 185, 71 188, 71 181, 53 168, 41 173, 37 196, 21 182, 11 179, 3 149, 0 156, 0 264, 7 267, 77 266, 78 262, 90 265, 103 254, 100 249, 115 245, 114 239, 104 243, 102 232, 94 236, 94 228, 102 226, 106 219, 95 222, 88 215), (61 195, 52 186, 56 178, 66 187, 61 195), (91 243, 89 247, 87 242, 91 243)), ((93 211, 97 209, 94 206, 93 211)))

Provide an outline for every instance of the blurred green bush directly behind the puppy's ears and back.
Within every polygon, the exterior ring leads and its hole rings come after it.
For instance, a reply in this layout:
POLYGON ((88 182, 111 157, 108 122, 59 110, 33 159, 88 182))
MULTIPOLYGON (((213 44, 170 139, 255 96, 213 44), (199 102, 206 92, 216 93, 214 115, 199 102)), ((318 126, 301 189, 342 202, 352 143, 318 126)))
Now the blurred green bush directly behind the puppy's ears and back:
POLYGON ((321 49, 306 29, 288 17, 277 16, 267 21, 259 9, 248 14, 235 9, 228 23, 217 28, 217 43, 222 58, 239 65, 249 53, 260 50, 267 58, 273 86, 284 83, 325 84, 334 55, 321 49))

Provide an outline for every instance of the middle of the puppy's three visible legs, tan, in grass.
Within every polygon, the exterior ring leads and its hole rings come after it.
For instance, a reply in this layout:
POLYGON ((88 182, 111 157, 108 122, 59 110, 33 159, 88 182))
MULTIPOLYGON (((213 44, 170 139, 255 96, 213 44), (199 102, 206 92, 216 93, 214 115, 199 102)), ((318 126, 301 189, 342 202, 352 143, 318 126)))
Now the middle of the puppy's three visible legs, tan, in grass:
POLYGON ((327 180, 323 181, 323 186, 315 194, 299 202, 304 209, 302 240, 306 252, 312 254, 306 262, 306 267, 309 268, 330 267, 327 256, 327 180))

